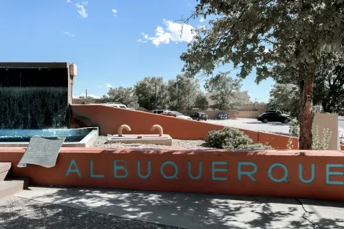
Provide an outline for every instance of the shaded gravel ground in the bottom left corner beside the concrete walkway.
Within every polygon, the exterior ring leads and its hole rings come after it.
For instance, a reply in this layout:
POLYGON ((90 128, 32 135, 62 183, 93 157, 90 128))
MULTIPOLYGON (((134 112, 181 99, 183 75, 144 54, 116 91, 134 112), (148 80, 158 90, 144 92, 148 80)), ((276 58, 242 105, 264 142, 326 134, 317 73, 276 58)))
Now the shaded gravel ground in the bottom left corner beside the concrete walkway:
POLYGON ((1 226, 7 229, 175 229, 14 196, 0 199, 1 226))

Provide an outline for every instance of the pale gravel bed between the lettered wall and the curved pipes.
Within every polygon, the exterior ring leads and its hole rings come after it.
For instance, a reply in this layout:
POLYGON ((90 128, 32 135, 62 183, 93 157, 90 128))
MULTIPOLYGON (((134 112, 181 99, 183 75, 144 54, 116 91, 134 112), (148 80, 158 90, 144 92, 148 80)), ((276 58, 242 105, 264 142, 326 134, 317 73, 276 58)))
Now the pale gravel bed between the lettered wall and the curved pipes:
POLYGON ((202 140, 177 140, 173 139, 172 146, 164 146, 157 144, 136 144, 136 143, 109 143, 105 144, 107 141, 107 136, 99 136, 98 139, 92 144, 91 147, 97 148, 131 148, 131 149, 211 149, 204 146, 204 141, 202 140))

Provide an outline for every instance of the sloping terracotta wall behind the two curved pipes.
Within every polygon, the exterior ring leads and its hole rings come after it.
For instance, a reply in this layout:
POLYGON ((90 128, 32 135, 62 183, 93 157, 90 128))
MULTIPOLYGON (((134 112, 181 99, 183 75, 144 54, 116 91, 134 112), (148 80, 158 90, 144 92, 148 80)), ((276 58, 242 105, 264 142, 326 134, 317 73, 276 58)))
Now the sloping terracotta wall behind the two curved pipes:
MULTIPOLYGON (((103 105, 72 105, 72 128, 80 127, 78 120, 84 120, 88 125, 96 125, 100 135, 117 134, 122 124, 131 127, 130 133, 149 134, 153 124, 160 124, 164 133, 175 139, 201 140, 206 138, 209 131, 220 130, 222 125, 194 120, 183 120, 168 116, 161 116, 154 113, 132 111, 103 105)), ((79 122, 80 124, 80 122, 79 122)), ((258 142, 258 132, 240 129, 258 142)), ((158 133, 158 132, 157 132, 158 133)))

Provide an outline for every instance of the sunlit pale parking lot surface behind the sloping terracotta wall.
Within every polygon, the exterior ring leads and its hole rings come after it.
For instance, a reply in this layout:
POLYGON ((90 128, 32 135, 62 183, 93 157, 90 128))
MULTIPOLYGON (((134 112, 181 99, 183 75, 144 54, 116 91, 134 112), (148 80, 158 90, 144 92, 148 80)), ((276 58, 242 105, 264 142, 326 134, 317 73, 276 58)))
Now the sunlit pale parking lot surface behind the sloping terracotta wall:
POLYGON ((206 122, 222 124, 228 127, 249 129, 251 131, 270 131, 272 133, 288 134, 289 124, 281 122, 263 123, 254 118, 238 118, 237 120, 207 120, 206 122))

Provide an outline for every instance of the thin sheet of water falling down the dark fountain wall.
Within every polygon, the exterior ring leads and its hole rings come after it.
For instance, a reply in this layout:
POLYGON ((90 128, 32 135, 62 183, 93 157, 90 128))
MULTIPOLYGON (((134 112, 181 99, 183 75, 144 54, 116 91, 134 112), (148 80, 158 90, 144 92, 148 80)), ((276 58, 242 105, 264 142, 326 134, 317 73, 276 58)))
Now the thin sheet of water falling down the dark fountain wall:
POLYGON ((0 129, 69 127, 67 87, 0 87, 0 129))

